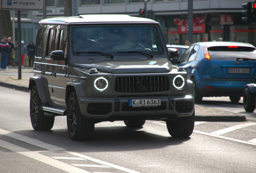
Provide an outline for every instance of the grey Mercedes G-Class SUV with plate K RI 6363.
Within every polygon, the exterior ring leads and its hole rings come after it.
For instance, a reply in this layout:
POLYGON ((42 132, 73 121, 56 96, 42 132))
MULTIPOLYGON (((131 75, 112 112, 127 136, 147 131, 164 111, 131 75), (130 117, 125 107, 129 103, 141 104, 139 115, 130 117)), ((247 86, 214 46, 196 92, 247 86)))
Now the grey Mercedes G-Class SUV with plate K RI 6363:
POLYGON ((142 127, 165 121, 172 137, 194 129, 194 86, 172 66, 159 23, 128 15, 41 20, 29 79, 33 129, 66 116, 72 140, 88 140, 95 123, 142 127))

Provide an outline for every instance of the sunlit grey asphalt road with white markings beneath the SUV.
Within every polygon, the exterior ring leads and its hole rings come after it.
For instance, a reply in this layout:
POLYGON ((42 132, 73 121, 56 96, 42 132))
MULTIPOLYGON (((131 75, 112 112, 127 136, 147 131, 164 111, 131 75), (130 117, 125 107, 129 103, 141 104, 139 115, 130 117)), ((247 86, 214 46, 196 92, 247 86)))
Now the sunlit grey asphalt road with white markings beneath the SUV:
POLYGON ((196 122, 173 138, 162 121, 130 129, 122 121, 95 125, 90 141, 68 137, 66 117, 34 131, 29 93, 0 87, 1 173, 253 173, 255 122, 196 122))

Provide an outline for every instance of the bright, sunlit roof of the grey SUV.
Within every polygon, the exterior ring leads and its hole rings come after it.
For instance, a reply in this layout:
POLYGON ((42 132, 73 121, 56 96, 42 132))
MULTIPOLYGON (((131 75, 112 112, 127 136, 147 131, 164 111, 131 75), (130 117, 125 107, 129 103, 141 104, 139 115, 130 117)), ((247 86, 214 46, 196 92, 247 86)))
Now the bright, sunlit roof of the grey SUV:
POLYGON ((132 17, 125 14, 86 14, 74 17, 56 17, 44 19, 39 24, 74 24, 74 23, 155 23, 148 18, 132 17))

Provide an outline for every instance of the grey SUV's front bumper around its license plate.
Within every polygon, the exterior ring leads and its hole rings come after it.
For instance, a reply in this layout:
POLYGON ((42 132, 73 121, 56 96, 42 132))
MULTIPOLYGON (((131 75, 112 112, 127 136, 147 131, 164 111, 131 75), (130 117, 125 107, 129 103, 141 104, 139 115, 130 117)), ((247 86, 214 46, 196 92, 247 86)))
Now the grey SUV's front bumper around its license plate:
POLYGON ((194 98, 186 96, 160 97, 78 97, 81 113, 100 121, 163 120, 188 117, 194 112, 194 98), (129 107, 129 99, 161 99, 159 107, 129 107))

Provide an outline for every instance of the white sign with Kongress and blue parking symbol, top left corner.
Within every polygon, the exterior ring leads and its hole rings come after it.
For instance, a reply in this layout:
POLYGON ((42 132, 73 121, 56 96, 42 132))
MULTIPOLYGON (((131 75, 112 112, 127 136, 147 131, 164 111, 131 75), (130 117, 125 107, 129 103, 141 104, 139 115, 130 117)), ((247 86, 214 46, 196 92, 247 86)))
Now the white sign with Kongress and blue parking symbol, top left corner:
POLYGON ((1 0, 2 10, 44 10, 45 0, 1 0))

